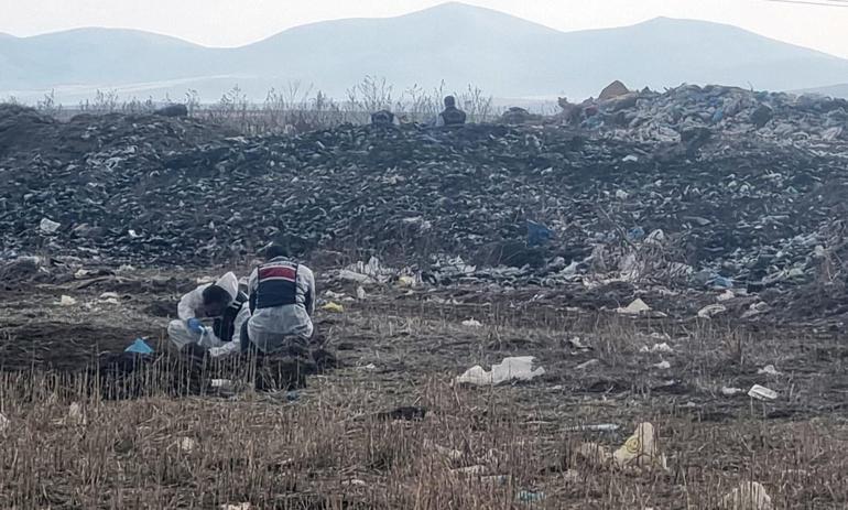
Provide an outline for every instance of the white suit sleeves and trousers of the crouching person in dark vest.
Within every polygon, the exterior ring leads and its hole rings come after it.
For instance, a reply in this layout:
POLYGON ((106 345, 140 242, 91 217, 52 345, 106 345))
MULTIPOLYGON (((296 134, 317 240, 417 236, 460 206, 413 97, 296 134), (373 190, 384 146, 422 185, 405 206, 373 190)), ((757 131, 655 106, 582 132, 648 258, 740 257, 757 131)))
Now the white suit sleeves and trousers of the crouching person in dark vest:
MULTIPOLYGON (((259 270, 254 269, 248 279, 248 293, 251 299, 257 292, 258 276, 259 270)), ((285 347, 287 337, 297 337, 304 341, 312 338, 315 274, 306 265, 297 264, 295 286, 295 304, 256 308, 248 321, 248 337, 263 352, 272 352, 285 347)))

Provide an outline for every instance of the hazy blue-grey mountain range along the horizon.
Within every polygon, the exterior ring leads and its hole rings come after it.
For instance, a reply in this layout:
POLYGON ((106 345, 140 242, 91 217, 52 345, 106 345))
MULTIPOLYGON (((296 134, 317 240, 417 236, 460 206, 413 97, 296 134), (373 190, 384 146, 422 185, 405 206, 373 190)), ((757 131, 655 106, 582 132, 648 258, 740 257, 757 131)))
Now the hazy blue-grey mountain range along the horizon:
MULTIPOLYGON (((468 84, 499 97, 597 96, 613 79, 632 88, 682 83, 769 90, 848 79, 848 61, 703 21, 657 18, 633 26, 558 32, 498 11, 445 3, 387 19, 314 23, 238 48, 210 48, 145 32, 78 29, 32 37, 0 34, 0 97, 56 89, 74 101, 97 88, 215 100, 238 84, 253 99, 300 80, 331 96, 366 75, 395 94, 468 84)), ((841 89, 837 89, 841 90, 841 89)))

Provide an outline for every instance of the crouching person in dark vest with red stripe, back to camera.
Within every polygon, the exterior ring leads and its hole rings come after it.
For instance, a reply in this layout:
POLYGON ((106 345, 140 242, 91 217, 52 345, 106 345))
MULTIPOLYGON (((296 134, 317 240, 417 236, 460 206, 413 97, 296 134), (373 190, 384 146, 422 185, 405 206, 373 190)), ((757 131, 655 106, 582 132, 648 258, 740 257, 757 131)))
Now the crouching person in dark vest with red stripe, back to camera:
POLYGON ((264 354, 300 355, 313 333, 315 275, 282 246, 272 245, 264 254, 248 279, 250 318, 242 337, 264 354))

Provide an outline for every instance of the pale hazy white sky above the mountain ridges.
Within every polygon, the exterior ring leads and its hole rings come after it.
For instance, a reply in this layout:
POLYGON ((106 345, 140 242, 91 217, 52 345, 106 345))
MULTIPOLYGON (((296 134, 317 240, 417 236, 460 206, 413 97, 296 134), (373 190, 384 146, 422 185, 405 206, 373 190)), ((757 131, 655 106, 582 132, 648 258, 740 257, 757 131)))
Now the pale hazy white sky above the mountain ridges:
MULTIPOLYGON (((444 0, 0 0, 0 32, 131 28, 209 46, 238 46, 298 24, 391 17, 444 0)), ((848 1, 467 0, 554 29, 620 26, 659 15, 717 21, 848 58, 848 1)))

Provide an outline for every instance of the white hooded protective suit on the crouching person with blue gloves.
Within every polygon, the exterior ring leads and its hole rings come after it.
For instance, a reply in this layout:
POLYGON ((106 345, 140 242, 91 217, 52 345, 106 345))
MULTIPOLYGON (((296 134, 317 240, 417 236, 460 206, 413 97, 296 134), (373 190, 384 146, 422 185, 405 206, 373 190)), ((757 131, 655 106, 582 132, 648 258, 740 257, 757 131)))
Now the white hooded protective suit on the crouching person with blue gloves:
MULTIPOLYGON (((215 284, 227 291, 232 300, 238 296, 239 281, 232 272, 221 276, 215 284)), ((213 328, 210 327, 211 324, 209 321, 214 317, 203 317, 198 314, 198 311, 203 308, 203 291, 209 285, 210 283, 200 285, 180 300, 180 304, 177 305, 177 316, 180 319, 171 321, 171 324, 167 326, 167 336, 177 349, 181 349, 188 344, 197 344, 209 349, 209 355, 213 357, 222 357, 239 352, 241 348, 241 325, 248 317, 250 317, 250 308, 246 302, 236 316, 232 340, 222 341, 215 335, 215 333, 213 333, 213 328), (203 335, 199 335, 188 329, 186 323, 189 318, 204 321, 206 332, 203 335)))

